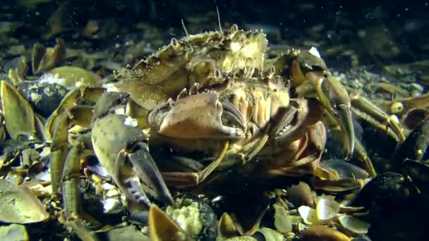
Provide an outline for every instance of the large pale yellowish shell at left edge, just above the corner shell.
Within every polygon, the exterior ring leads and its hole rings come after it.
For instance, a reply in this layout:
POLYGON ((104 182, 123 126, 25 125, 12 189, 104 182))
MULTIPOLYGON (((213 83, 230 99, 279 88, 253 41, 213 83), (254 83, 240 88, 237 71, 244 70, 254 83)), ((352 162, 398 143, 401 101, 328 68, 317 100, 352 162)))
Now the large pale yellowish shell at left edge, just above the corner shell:
POLYGON ((49 217, 35 194, 6 180, 0 180, 0 203, 4 223, 37 223, 49 217))

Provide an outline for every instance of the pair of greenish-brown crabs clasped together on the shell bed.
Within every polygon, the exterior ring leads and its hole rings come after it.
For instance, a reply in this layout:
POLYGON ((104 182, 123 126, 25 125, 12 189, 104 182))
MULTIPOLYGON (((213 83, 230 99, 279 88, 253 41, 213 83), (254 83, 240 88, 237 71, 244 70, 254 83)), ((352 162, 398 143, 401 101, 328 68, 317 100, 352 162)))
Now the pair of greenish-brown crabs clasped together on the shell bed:
POLYGON ((324 123, 338 130, 346 156, 356 149, 375 175, 354 136, 352 113, 401 142, 397 123, 370 101, 349 95, 315 49, 266 55, 262 32, 233 25, 171 39, 135 67, 116 73, 119 92, 68 93, 46 127, 52 135, 53 191, 62 192, 75 233, 96 239, 80 221, 95 223, 79 203, 79 160, 85 149, 95 153, 135 210, 150 208, 147 192, 173 204, 169 187, 192 188, 231 168, 249 178, 310 174, 334 179, 334 172, 318 165, 324 123), (81 106, 83 99, 96 104, 81 106), (76 125, 86 132, 70 141, 69 129, 76 125))

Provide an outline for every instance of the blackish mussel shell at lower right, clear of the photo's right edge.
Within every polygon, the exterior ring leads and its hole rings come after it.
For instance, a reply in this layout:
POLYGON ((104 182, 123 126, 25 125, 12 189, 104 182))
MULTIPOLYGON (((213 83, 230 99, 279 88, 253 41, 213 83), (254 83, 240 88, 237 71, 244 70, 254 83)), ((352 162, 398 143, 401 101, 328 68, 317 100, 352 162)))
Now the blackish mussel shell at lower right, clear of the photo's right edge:
POLYGON ((370 180, 358 193, 351 206, 392 206, 409 198, 410 185, 399 173, 383 173, 370 180))

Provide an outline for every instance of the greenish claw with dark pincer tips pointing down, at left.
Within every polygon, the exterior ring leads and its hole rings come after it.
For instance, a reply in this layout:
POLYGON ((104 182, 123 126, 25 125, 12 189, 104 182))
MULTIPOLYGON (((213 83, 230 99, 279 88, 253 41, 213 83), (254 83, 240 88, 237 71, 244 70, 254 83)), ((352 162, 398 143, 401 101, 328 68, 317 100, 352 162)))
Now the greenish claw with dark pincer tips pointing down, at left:
POLYGON ((173 199, 147 148, 147 136, 126 124, 126 116, 107 114, 95 121, 92 147, 102 166, 126 196, 145 208, 150 200, 140 184, 147 186, 167 204, 173 199))

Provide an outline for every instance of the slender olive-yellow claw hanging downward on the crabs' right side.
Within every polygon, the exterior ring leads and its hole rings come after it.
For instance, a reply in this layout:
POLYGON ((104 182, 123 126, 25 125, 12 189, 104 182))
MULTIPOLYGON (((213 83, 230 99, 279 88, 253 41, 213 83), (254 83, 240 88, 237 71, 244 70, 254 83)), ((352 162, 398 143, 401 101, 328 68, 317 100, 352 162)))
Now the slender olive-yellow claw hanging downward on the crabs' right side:
POLYGON ((350 97, 344 86, 330 73, 325 73, 323 78, 320 75, 315 80, 315 88, 322 106, 327 113, 334 118, 342 130, 342 142, 346 158, 351 158, 354 152, 355 136, 354 125, 351 119, 350 97))

